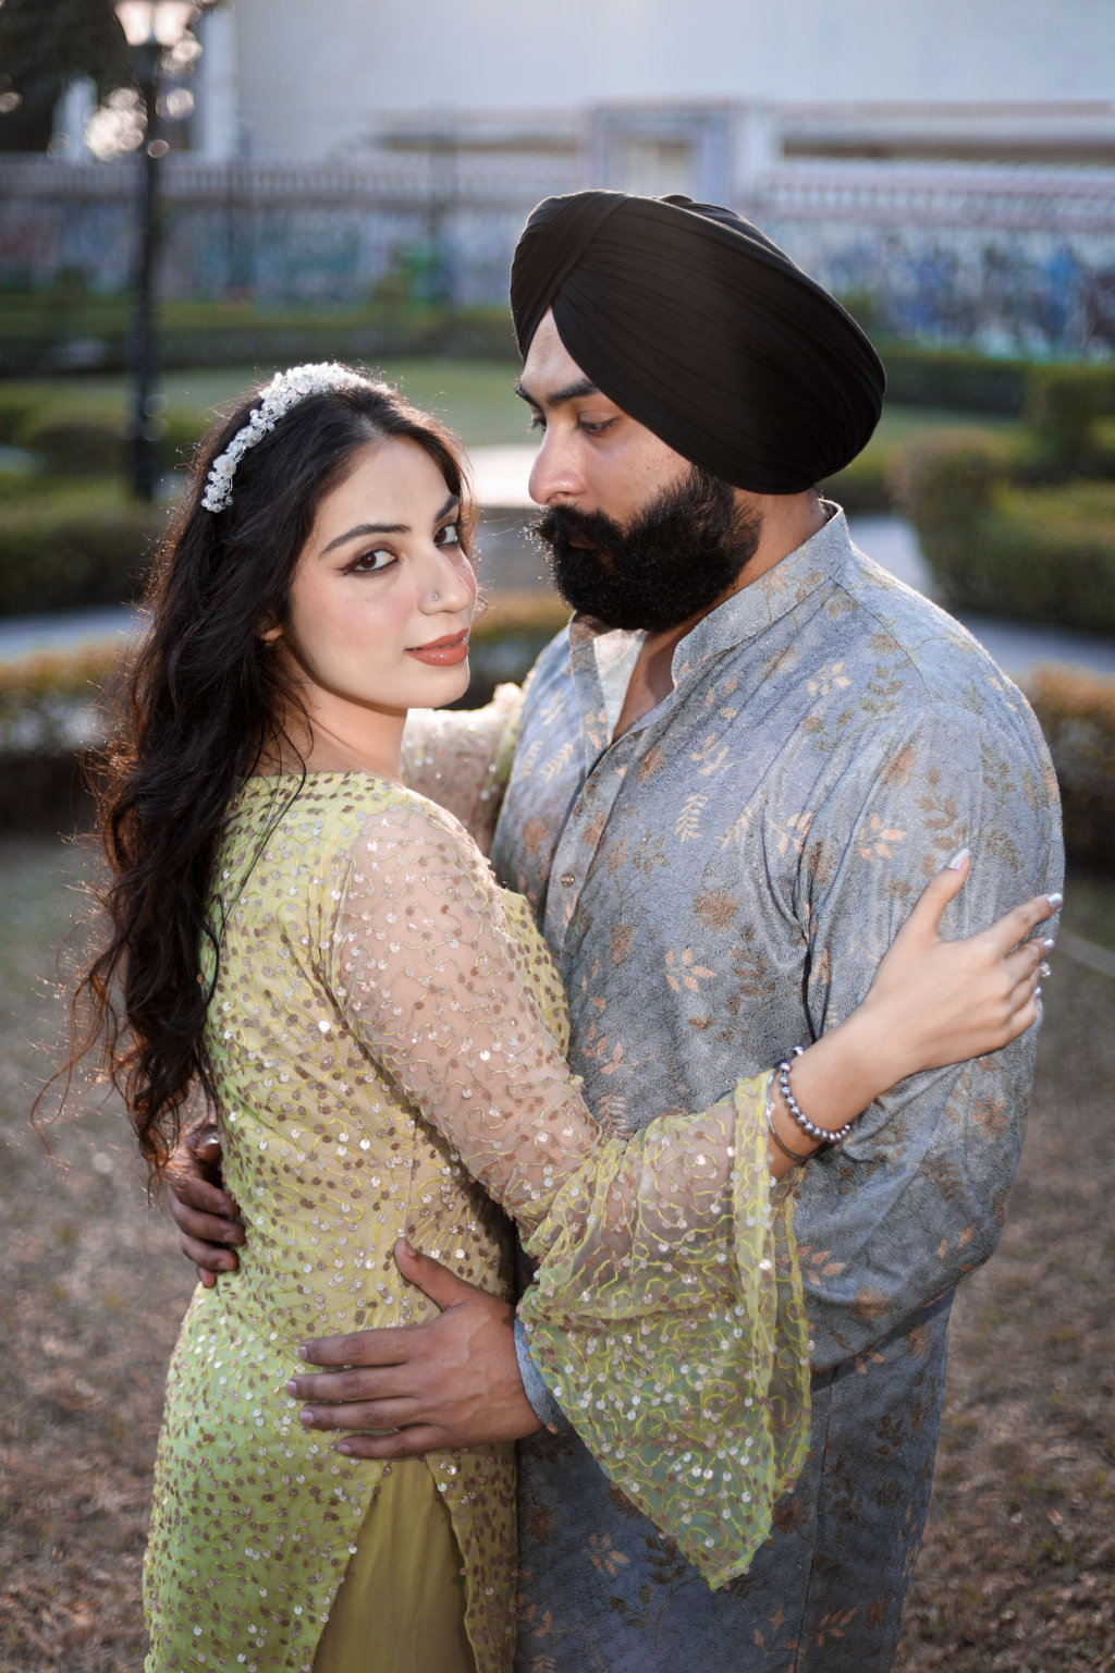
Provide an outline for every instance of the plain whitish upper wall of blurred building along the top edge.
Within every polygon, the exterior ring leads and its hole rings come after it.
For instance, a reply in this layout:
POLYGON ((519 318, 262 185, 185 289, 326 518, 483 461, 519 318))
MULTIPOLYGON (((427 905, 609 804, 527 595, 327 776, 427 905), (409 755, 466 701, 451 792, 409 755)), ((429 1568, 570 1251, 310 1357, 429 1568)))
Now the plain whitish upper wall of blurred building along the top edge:
POLYGON ((236 0, 254 156, 386 110, 1115 95, 1115 0, 236 0))

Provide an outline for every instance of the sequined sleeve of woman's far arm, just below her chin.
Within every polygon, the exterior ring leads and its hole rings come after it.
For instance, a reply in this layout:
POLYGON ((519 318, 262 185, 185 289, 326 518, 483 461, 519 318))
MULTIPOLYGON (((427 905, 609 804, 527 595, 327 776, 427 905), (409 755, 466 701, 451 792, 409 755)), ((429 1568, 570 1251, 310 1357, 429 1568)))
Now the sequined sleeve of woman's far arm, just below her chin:
POLYGON ((405 781, 448 808, 481 853, 491 848, 522 704, 522 686, 496 686, 483 709, 411 709, 406 718, 405 781))

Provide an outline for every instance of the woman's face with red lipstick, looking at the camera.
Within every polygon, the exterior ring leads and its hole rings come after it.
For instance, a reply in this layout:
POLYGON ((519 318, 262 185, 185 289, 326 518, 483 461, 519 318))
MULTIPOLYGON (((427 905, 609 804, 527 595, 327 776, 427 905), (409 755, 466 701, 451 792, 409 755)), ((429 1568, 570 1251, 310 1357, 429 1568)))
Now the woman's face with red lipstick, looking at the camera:
POLYGON ((476 581, 460 502, 416 442, 369 442, 318 505, 279 637, 314 734, 356 741, 468 688, 476 581))

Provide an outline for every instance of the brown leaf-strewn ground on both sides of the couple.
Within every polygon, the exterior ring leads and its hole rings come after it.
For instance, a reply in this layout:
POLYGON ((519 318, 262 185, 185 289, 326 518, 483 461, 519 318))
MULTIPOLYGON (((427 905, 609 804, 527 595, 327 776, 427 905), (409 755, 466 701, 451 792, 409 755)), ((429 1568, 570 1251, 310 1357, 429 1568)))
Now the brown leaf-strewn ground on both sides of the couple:
MULTIPOLYGON (((64 1037, 45 980, 74 848, 0 848, 0 1673, 124 1673, 165 1362, 191 1276, 147 1206, 127 1123, 85 1089, 28 1128, 64 1037)), ((1115 949, 1115 887, 1068 929, 1115 949)), ((1046 985, 1031 1133, 1000 1253, 955 1308, 929 1529, 898 1673, 1115 1666, 1115 982, 1046 985)), ((710 1670, 715 1673, 715 1670, 710 1670)))

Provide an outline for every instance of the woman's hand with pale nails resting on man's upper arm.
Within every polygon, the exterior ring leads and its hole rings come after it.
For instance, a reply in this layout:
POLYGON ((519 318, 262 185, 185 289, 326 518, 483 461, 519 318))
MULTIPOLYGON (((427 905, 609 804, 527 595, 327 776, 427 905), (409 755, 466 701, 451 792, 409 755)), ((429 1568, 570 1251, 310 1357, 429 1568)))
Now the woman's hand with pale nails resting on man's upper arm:
POLYGON ((1040 965, 1053 940, 1026 937, 1062 897, 1035 895, 978 935, 941 940, 941 913, 970 867, 963 850, 926 883, 859 1007, 861 1026, 889 1034, 894 1079, 1001 1051, 1038 1021, 1040 965))

